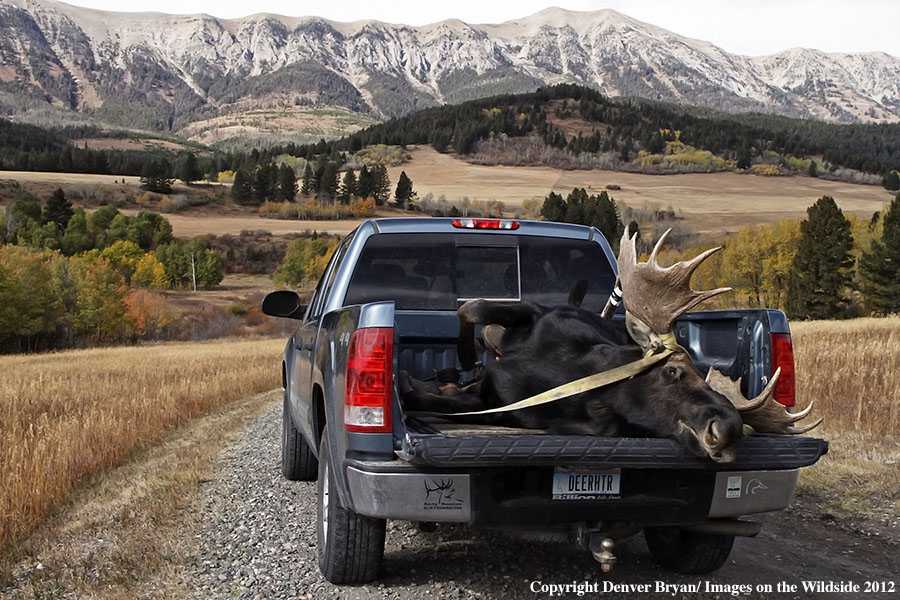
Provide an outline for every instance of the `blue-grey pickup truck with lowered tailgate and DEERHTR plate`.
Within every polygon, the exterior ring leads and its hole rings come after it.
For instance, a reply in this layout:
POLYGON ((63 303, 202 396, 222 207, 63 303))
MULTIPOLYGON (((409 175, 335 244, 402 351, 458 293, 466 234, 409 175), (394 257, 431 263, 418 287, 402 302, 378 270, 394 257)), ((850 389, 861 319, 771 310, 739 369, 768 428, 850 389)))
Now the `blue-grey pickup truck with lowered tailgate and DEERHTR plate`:
MULTIPOLYGON (((788 506, 798 470, 827 442, 747 436, 736 460, 719 464, 670 439, 551 435, 404 413, 401 371, 427 380, 459 368, 463 302, 565 304, 580 285, 582 308, 600 312, 615 280, 615 257, 595 228, 376 219, 340 243, 308 306, 292 291, 266 296, 263 312, 299 321, 281 365, 281 467, 289 480, 318 480, 318 562, 329 581, 378 577, 386 519, 538 530, 589 549, 604 570, 616 540, 643 532, 662 566, 707 573, 725 563, 735 536, 759 531, 738 517, 788 506)), ((793 404, 780 311, 692 312, 674 332, 702 373, 714 366, 743 377, 748 397, 781 367, 776 397, 793 404)), ((480 358, 492 360, 486 351, 480 358)))

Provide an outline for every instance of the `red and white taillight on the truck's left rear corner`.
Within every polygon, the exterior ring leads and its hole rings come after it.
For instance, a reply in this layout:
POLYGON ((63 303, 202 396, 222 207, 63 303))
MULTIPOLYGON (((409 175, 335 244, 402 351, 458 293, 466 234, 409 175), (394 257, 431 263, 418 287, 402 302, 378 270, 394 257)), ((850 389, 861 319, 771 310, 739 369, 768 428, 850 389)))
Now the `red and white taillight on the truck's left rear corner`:
POLYGON ((394 330, 359 329, 350 338, 344 394, 347 431, 391 431, 394 330))

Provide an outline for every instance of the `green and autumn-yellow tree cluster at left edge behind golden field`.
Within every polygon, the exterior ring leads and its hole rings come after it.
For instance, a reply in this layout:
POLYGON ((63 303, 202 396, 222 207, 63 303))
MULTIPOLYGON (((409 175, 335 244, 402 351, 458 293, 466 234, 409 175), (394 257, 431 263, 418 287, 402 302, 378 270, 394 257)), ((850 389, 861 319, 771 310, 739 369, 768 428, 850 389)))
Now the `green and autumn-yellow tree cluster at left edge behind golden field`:
POLYGON ((19 196, 0 213, 0 352, 152 337, 166 319, 150 290, 222 281, 208 241, 175 240, 157 213, 132 217, 110 205, 87 213, 62 189, 43 206, 19 196))

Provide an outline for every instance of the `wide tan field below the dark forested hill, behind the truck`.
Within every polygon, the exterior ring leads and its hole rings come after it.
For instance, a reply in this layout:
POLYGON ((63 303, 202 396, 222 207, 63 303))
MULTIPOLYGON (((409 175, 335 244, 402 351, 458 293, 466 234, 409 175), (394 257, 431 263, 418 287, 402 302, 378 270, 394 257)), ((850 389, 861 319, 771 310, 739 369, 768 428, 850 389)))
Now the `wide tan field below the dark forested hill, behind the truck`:
POLYGON ((410 149, 410 162, 388 169, 391 181, 405 171, 422 198, 444 195, 502 201, 514 209, 523 200, 555 191, 565 197, 572 188, 597 194, 607 185, 621 186, 610 195, 635 209, 672 206, 684 225, 699 233, 721 235, 747 225, 806 218, 807 207, 832 196, 845 212, 869 218, 893 197, 880 186, 826 181, 812 177, 763 177, 738 173, 642 175, 616 171, 562 171, 549 167, 472 165, 428 146, 410 149))

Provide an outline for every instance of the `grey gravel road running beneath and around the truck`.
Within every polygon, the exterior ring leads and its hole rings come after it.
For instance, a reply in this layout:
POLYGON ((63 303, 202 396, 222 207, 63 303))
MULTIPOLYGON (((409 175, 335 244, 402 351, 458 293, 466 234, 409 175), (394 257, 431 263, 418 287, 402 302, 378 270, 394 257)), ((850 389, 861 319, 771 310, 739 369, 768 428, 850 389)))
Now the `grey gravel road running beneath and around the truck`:
POLYGON ((738 538, 729 564, 711 576, 681 577, 659 569, 641 536, 618 545, 619 565, 604 575, 587 552, 565 545, 457 526, 423 532, 389 522, 381 582, 337 587, 322 578, 316 564, 315 483, 281 477, 280 433, 278 403, 222 452, 220 476, 203 485, 202 522, 191 532, 200 552, 185 565, 182 582, 187 597, 549 598, 550 585, 578 583, 597 591, 582 588, 588 593, 579 595, 570 588, 554 597, 900 598, 896 587, 893 593, 864 589, 867 582, 900 587, 897 524, 886 522, 877 530, 838 524, 810 501, 767 517, 757 538, 738 538), (805 593, 803 582, 812 581, 844 588, 805 593), (797 591, 779 592, 782 582, 797 591), (848 582, 859 591, 847 591, 848 582), (676 587, 660 590, 665 584, 676 587), (753 589, 760 584, 773 591, 753 589), (610 590, 613 585, 648 585, 650 591, 610 590), (699 586, 699 593, 678 588, 687 585, 699 586))

